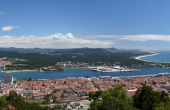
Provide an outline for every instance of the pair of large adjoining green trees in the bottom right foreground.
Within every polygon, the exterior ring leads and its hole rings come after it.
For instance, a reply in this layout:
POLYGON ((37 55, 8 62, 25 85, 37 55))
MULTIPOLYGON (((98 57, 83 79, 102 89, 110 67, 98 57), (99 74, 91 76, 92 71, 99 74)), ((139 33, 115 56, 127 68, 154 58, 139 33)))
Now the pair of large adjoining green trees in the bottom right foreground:
POLYGON ((145 84, 132 99, 119 85, 104 92, 91 93, 90 98, 93 100, 90 110, 170 110, 169 95, 164 91, 155 92, 145 84))

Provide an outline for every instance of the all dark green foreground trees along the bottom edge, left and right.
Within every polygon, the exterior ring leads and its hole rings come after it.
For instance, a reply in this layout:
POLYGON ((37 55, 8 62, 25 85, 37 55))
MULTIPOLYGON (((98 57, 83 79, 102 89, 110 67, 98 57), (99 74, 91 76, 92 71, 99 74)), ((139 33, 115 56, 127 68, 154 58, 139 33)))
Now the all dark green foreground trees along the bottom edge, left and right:
MULTIPOLYGON (((53 93, 57 92, 55 90, 53 93)), ((42 104, 49 104, 48 94, 42 104)), ((129 98, 123 86, 117 85, 106 91, 97 91, 89 94, 90 100, 93 100, 89 110, 170 110, 170 97, 165 91, 155 92, 150 86, 143 84, 133 98, 129 98)), ((54 100, 58 103, 59 100, 54 100)), ((66 107, 55 106, 49 108, 41 107, 34 101, 26 102, 20 95, 10 91, 9 96, 0 97, 0 110, 65 110, 66 107)))

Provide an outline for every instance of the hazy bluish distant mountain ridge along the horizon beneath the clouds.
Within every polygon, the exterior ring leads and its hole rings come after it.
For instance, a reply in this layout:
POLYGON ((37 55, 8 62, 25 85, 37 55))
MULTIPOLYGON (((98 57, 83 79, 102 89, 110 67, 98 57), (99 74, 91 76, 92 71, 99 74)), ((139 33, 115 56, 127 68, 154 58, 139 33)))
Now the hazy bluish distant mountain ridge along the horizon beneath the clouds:
POLYGON ((0 51, 14 51, 20 53, 66 53, 66 54, 94 54, 94 53, 110 53, 110 52, 140 52, 140 50, 122 50, 116 48, 71 48, 71 49, 42 49, 42 48, 0 48, 0 51))

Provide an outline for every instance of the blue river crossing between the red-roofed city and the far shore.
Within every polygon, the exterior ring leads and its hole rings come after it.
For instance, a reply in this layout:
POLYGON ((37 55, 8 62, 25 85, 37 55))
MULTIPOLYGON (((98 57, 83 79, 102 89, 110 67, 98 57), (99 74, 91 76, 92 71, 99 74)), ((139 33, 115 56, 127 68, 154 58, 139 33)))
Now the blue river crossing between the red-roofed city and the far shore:
MULTIPOLYGON (((134 75, 146 75, 146 74, 157 74, 170 72, 170 68, 135 68, 139 69, 139 72, 93 72, 85 68, 67 68, 62 72, 13 72, 4 73, 0 72, 0 80, 4 75, 12 75, 14 78, 33 78, 33 79, 58 79, 58 78, 68 78, 68 77, 99 77, 99 76, 112 76, 112 77, 122 77, 122 76, 134 76, 134 75)), ((1 71, 2 69, 0 69, 1 71)))

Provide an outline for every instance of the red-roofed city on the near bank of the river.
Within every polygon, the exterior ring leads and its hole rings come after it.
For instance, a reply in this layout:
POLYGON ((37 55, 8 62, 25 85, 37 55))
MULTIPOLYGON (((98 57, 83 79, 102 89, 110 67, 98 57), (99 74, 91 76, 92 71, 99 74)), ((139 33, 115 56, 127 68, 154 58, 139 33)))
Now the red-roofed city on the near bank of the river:
MULTIPOLYGON (((154 91, 166 91, 169 94, 170 78, 167 75, 159 74, 155 77, 134 77, 134 78, 112 78, 112 77, 92 77, 92 78, 65 78, 56 80, 21 80, 14 81, 13 76, 4 76, 1 82, 0 96, 8 95, 11 90, 20 94, 25 100, 40 100, 44 99, 47 94, 52 93, 54 90, 58 92, 53 94, 54 97, 62 103, 67 103, 68 109, 76 109, 73 103, 79 104, 84 109, 90 107, 91 100, 89 93, 96 91, 104 91, 112 88, 115 85, 122 85, 126 91, 126 95, 130 98, 133 97, 138 88, 142 84, 147 84, 153 88, 154 91), (72 108, 73 107, 73 108, 72 108)), ((50 100, 53 105, 53 100, 50 100)))

